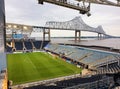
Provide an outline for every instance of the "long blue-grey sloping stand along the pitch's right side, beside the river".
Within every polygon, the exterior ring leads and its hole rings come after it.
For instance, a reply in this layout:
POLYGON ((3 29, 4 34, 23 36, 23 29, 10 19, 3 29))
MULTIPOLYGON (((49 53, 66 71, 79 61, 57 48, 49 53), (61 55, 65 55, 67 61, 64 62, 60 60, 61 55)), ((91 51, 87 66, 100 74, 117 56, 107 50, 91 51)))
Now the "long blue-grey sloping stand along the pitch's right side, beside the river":
POLYGON ((101 66, 108 61, 109 63, 118 61, 115 58, 115 55, 118 54, 77 46, 49 44, 49 46, 45 47, 45 50, 56 53, 59 56, 65 56, 64 58, 72 59, 73 61, 78 62, 78 64, 82 63, 89 65, 89 67, 101 66))

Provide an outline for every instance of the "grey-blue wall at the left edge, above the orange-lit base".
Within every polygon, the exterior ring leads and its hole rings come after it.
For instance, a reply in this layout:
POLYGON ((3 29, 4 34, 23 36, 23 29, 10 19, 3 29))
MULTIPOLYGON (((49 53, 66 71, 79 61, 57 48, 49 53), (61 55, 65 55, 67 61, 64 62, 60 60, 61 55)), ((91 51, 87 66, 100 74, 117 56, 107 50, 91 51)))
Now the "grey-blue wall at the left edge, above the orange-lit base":
POLYGON ((5 54, 5 7, 4 0, 0 0, 0 71, 6 68, 5 54))

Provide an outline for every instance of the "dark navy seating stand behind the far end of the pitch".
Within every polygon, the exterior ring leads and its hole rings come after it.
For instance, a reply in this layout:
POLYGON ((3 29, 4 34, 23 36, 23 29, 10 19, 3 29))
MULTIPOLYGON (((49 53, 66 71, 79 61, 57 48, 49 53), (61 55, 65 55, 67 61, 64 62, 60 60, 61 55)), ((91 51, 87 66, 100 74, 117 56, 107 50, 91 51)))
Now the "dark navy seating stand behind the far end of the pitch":
MULTIPOLYGON (((13 47, 9 46, 11 42, 7 41, 6 51, 12 52, 13 47)), ((14 51, 25 51, 25 50, 40 50, 43 49, 45 46, 48 45, 49 41, 35 41, 35 40, 14 40, 15 43, 15 50, 14 51)))

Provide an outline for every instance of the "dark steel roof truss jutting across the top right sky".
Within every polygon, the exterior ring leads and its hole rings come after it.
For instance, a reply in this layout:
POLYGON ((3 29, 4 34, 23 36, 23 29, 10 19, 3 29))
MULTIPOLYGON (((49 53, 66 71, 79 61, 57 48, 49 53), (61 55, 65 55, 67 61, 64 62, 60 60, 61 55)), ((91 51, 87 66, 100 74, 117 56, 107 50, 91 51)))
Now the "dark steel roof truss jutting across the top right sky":
POLYGON ((91 3, 120 7, 120 0, 38 0, 39 4, 44 2, 78 10, 80 14, 87 14, 87 16, 91 15, 91 3))

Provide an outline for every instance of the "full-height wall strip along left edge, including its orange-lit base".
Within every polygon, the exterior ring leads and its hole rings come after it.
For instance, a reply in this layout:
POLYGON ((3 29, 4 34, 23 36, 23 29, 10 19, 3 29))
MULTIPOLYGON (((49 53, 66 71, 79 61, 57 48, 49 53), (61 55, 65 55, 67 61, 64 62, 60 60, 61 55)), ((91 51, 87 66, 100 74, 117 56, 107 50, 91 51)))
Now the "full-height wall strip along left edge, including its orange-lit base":
POLYGON ((6 54, 5 54, 5 7, 4 0, 0 0, 0 89, 7 89, 6 54), (5 82, 5 83, 3 83, 5 82))

